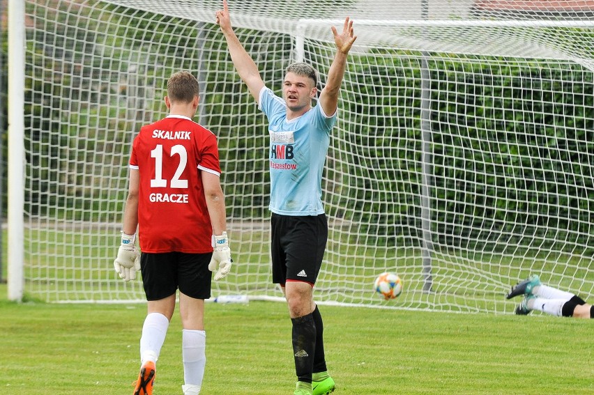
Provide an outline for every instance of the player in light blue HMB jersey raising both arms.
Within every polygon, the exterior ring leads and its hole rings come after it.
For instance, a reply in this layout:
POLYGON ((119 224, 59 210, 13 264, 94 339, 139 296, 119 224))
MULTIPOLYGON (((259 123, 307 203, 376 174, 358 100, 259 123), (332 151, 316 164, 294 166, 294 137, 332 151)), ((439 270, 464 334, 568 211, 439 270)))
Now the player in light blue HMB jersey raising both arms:
POLYGON ((271 254, 273 282, 280 284, 293 325, 297 385, 294 395, 330 394, 323 350, 323 322, 313 298, 313 287, 326 249, 328 223, 321 202, 321 176, 330 132, 336 123, 338 91, 347 55, 356 36, 347 17, 342 32, 332 26, 335 58, 318 104, 317 72, 307 63, 289 65, 282 98, 264 86, 256 63, 245 51, 231 26, 227 1, 216 13, 227 39, 235 68, 266 114, 270 133, 271 254))

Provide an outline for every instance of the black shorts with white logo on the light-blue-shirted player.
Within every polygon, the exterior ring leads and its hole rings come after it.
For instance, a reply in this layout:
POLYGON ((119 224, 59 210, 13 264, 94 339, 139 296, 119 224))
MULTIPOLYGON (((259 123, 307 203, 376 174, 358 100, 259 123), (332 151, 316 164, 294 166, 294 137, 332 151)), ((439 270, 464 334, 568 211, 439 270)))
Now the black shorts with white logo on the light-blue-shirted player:
POLYGON ((278 215, 271 217, 273 283, 287 281, 315 284, 320 272, 326 241, 326 215, 278 215))

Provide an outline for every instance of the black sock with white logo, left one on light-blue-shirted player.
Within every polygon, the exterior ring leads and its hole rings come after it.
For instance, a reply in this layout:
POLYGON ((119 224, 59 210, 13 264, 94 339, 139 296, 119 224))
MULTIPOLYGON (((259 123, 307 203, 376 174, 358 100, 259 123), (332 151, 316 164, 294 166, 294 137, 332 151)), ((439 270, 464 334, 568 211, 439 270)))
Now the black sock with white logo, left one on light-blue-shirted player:
POLYGON ((293 353, 297 380, 312 382, 312 369, 316 353, 316 325, 312 314, 291 318, 293 323, 293 353))

